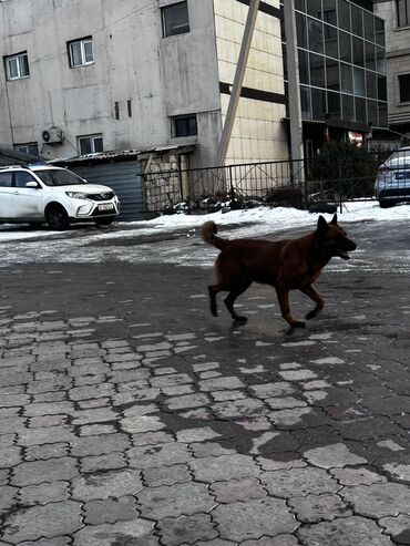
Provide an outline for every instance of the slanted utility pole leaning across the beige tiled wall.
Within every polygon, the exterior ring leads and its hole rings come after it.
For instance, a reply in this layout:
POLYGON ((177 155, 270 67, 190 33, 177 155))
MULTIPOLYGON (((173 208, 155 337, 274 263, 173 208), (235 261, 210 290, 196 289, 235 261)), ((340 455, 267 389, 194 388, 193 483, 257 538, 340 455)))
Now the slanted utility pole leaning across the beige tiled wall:
POLYGON ((221 142, 216 155, 215 165, 222 166, 225 164, 226 154, 229 146, 232 130, 234 127, 236 111, 240 97, 240 90, 245 78, 246 65, 249 56, 252 38, 256 23, 256 17, 259 9, 259 0, 250 0, 248 17, 246 19, 244 35, 240 44, 239 59, 236 65, 234 85, 230 92, 228 111, 224 123, 224 128, 221 136, 221 142))

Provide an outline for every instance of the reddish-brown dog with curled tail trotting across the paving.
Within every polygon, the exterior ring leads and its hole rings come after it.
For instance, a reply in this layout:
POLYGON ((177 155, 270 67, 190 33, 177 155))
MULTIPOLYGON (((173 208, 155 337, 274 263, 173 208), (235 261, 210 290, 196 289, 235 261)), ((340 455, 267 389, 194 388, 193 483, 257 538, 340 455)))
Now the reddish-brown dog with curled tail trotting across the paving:
POLYGON ((221 250, 215 269, 217 284, 208 287, 211 312, 217 317, 216 295, 228 291, 225 305, 236 322, 246 322, 234 309, 236 298, 255 282, 269 285, 276 289, 283 318, 296 328, 305 322, 294 319, 289 307, 289 290, 298 289, 316 303, 307 319, 316 317, 325 301, 312 287, 328 261, 339 256, 349 259, 347 254, 357 245, 338 225, 335 214, 328 224, 319 216, 317 228, 304 237, 278 241, 255 239, 222 239, 216 236, 214 222, 205 222, 201 235, 205 243, 221 250))

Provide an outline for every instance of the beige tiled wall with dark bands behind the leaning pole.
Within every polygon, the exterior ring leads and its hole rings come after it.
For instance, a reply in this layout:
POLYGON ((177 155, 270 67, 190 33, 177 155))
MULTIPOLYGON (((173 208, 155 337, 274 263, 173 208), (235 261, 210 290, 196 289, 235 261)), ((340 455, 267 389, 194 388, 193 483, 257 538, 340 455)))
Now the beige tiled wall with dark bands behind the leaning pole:
MULTIPOLYGON (((279 1, 269 0, 275 8, 279 1)), ((237 0, 214 0, 219 81, 233 84, 248 7, 237 0)), ((284 94, 280 23, 259 10, 244 86, 284 94)), ((229 95, 222 94, 225 120, 229 95)), ((240 97, 226 164, 288 158, 281 119, 285 105, 240 97)))

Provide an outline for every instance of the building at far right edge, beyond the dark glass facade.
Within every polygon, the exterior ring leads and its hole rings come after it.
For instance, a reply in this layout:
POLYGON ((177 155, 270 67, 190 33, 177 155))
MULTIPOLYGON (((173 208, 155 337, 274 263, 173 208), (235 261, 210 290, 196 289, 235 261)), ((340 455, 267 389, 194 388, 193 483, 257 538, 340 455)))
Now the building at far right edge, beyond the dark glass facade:
POLYGON ((386 21, 386 50, 391 138, 410 141, 410 0, 376 3, 386 21))

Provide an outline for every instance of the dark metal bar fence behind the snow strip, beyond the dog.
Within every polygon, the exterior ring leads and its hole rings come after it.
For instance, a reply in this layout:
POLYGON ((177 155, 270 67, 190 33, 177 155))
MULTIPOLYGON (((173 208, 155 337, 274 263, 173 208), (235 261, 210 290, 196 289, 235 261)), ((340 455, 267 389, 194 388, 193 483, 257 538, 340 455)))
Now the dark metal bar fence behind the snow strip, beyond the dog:
POLYGON ((375 198, 378 166, 391 152, 145 174, 148 212, 246 208, 257 204, 309 208, 375 198))

